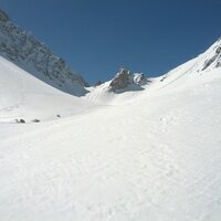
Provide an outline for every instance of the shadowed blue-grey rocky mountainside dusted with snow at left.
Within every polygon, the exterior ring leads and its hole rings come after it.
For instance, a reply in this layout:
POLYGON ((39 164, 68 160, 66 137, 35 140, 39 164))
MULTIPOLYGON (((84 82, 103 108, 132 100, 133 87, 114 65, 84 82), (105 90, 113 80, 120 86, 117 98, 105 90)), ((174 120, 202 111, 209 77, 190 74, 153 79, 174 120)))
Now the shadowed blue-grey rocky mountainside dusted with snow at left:
POLYGON ((73 72, 65 61, 56 56, 45 44, 15 25, 0 10, 0 54, 35 77, 73 95, 86 93, 85 80, 73 72))

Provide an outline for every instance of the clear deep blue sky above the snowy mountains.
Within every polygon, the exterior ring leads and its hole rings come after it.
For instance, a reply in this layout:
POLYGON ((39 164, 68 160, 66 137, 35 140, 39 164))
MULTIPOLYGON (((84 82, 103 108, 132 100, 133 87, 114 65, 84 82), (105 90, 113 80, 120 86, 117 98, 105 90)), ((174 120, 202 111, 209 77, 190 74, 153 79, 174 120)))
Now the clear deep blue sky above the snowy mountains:
POLYGON ((221 35, 221 0, 0 0, 0 8, 90 83, 120 65, 164 74, 221 35))

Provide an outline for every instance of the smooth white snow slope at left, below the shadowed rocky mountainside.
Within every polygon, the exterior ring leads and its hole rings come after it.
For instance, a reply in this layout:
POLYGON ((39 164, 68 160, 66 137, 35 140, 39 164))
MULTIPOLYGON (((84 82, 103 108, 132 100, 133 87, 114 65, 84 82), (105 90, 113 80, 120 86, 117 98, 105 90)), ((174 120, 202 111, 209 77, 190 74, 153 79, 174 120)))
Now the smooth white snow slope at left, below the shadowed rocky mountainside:
POLYGON ((38 80, 0 56, 0 123, 55 119, 92 108, 84 98, 71 96, 38 80))

